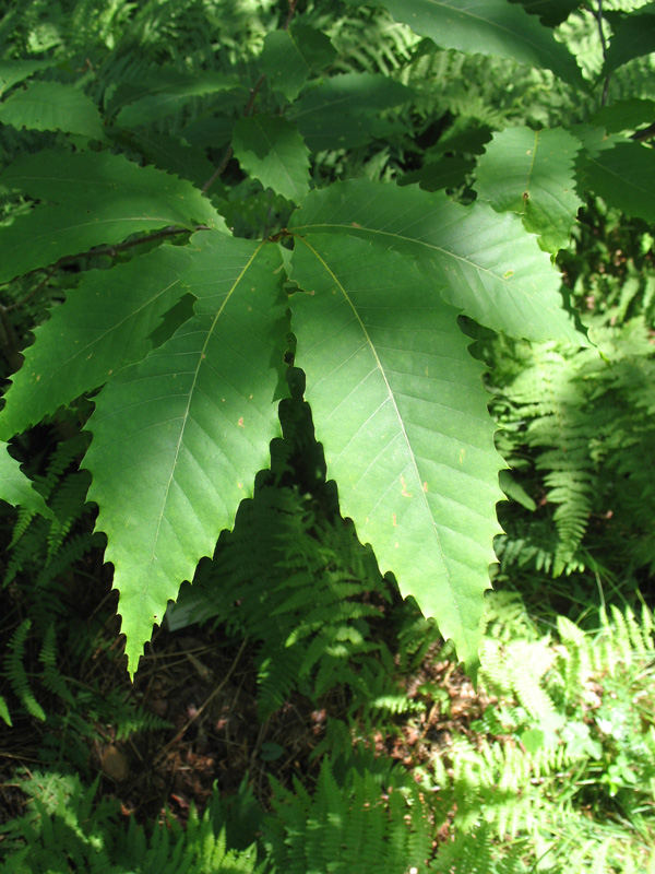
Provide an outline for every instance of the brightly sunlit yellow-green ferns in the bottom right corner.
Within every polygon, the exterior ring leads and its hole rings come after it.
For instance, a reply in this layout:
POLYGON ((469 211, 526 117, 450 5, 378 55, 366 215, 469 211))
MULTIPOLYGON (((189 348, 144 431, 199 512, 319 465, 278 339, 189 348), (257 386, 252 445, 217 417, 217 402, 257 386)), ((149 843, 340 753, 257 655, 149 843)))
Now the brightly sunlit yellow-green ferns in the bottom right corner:
POLYGON ((508 846, 510 871, 528 871, 539 859, 535 870, 562 874, 647 870, 655 811, 652 614, 644 609, 638 618, 612 607, 596 631, 560 617, 553 641, 516 597, 500 592, 490 598, 489 618, 479 675, 489 704, 472 724, 477 741, 455 735, 432 761, 437 817, 454 817, 455 835, 434 870, 475 870, 466 861, 473 849, 463 848, 478 835, 485 871, 497 870, 508 846), (457 866, 451 853, 460 850, 457 866))

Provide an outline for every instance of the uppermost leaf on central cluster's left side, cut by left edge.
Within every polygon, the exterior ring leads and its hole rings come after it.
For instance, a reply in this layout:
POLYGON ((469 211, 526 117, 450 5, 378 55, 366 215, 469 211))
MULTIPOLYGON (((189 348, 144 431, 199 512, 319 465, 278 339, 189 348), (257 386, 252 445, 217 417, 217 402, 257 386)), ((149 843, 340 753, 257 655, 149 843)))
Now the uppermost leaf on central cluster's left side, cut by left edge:
POLYGON ((22 155, 0 173, 0 186, 58 204, 37 205, 0 228, 0 282, 140 231, 196 222, 225 228, 190 182, 109 152, 22 155))

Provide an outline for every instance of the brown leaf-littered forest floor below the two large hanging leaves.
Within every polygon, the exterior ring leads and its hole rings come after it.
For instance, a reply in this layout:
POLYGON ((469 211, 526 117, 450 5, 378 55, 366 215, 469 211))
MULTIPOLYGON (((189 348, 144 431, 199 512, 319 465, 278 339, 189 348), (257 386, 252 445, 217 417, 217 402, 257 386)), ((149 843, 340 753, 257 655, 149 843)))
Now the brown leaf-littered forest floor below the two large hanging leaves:
MULTIPOLYGON (((85 609, 97 615, 116 602, 108 581, 87 590, 85 609), (95 607, 93 606, 95 602, 95 607)), ((191 804, 202 812, 217 782, 222 795, 236 793, 243 780, 269 806, 270 777, 290 787, 294 777, 318 776, 319 759, 312 754, 324 736, 329 718, 346 719, 348 701, 343 694, 327 695, 317 707, 294 694, 265 720, 258 718, 254 645, 235 642, 221 627, 190 626, 155 631, 132 684, 122 657, 120 619, 108 618, 97 638, 95 652, 69 684, 93 689, 106 700, 116 696, 139 711, 165 720, 167 728, 135 731, 117 736, 116 725, 86 713, 91 731, 74 741, 85 751, 85 776, 100 781, 100 795, 120 801, 126 816, 153 822, 170 811, 184 822, 191 804), (87 734, 88 736, 84 736, 87 734)), ((34 654, 36 660, 36 653, 34 654)), ((26 664, 27 673, 31 665, 26 664)), ((32 665, 34 673, 38 665, 32 665)), ((72 672, 73 665, 68 665, 72 672)), ((66 668, 63 668, 66 671, 66 668)), ((372 743, 376 754, 412 769, 424 765, 437 749, 448 746, 453 734, 471 737, 472 720, 479 719, 487 701, 454 662, 430 648, 419 669, 398 681, 398 690, 417 705, 416 711, 385 717, 372 743), (436 702, 425 696, 426 685, 439 687, 444 697, 436 702)), ((57 696, 39 697, 46 712, 61 711, 57 696)), ((147 719, 147 717, 146 717, 147 719)), ((0 824, 24 812, 25 796, 16 775, 44 766, 43 748, 66 749, 74 728, 52 729, 27 714, 17 714, 13 728, 0 727, 0 824), (55 737, 52 737, 55 734, 55 737), (46 736, 47 735, 47 736, 46 736)), ((356 739, 354 739, 356 740, 356 739)), ((369 737, 370 742, 370 737, 369 737)), ((48 767, 53 763, 48 761, 48 767)))

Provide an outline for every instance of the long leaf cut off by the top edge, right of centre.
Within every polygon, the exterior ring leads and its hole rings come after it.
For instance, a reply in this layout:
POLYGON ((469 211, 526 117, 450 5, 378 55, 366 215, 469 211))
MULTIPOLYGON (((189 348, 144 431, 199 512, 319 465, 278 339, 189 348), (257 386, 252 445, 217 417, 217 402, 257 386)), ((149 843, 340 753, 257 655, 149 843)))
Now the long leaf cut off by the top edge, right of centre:
MULTIPOLYGON (((367 0, 368 1, 368 0, 367 0)), ((441 48, 545 67, 586 88, 580 68, 552 32, 508 0, 374 0, 441 48)))

